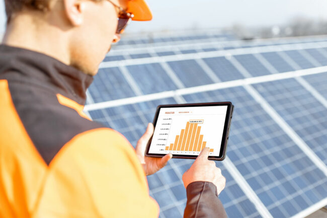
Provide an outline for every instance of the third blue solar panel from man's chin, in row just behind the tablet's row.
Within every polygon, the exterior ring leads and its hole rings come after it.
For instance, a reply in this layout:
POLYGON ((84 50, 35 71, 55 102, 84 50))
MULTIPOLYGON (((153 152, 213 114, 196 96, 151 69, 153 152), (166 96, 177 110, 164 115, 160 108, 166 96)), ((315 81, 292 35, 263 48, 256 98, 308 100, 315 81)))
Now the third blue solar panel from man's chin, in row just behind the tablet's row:
POLYGON ((201 86, 213 83, 206 72, 195 60, 168 62, 185 87, 201 86), (196 78, 196 79, 195 79, 196 78))

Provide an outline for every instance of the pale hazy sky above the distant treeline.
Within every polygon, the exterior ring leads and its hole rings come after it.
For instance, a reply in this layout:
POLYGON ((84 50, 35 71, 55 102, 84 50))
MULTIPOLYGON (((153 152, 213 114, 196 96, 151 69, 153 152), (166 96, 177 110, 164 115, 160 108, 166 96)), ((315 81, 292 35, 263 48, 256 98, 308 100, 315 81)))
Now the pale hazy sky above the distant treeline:
MULTIPOLYGON (((327 20, 325 0, 147 0, 153 19, 132 22, 126 33, 282 25, 295 17, 327 20)), ((5 31, 4 0, 0 0, 0 34, 5 31)))

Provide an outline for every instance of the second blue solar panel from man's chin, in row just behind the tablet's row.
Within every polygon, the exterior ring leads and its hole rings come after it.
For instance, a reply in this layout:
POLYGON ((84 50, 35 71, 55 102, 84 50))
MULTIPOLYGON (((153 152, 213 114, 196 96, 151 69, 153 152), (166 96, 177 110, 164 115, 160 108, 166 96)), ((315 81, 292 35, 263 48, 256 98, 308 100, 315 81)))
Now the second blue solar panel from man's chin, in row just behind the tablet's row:
POLYGON ((130 65, 127 69, 144 94, 177 89, 159 63, 130 65))

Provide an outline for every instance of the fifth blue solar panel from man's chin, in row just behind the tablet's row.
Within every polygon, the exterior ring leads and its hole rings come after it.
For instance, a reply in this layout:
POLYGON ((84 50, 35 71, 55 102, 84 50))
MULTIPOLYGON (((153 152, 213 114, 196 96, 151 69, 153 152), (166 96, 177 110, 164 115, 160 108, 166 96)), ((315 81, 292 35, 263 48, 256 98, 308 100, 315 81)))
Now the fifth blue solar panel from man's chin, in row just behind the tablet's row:
POLYGON ((269 72, 269 70, 253 54, 241 54, 235 55, 234 57, 254 77, 271 74, 271 72, 269 72))

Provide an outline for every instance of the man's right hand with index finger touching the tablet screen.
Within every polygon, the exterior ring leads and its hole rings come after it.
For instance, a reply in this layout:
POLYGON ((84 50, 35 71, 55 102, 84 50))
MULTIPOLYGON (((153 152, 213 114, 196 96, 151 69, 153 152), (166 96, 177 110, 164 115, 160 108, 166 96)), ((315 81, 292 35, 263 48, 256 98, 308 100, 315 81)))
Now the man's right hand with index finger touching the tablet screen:
POLYGON ((226 179, 214 161, 209 161, 209 148, 204 148, 190 169, 183 174, 185 188, 195 181, 212 182, 217 187, 217 195, 225 188, 226 179))

